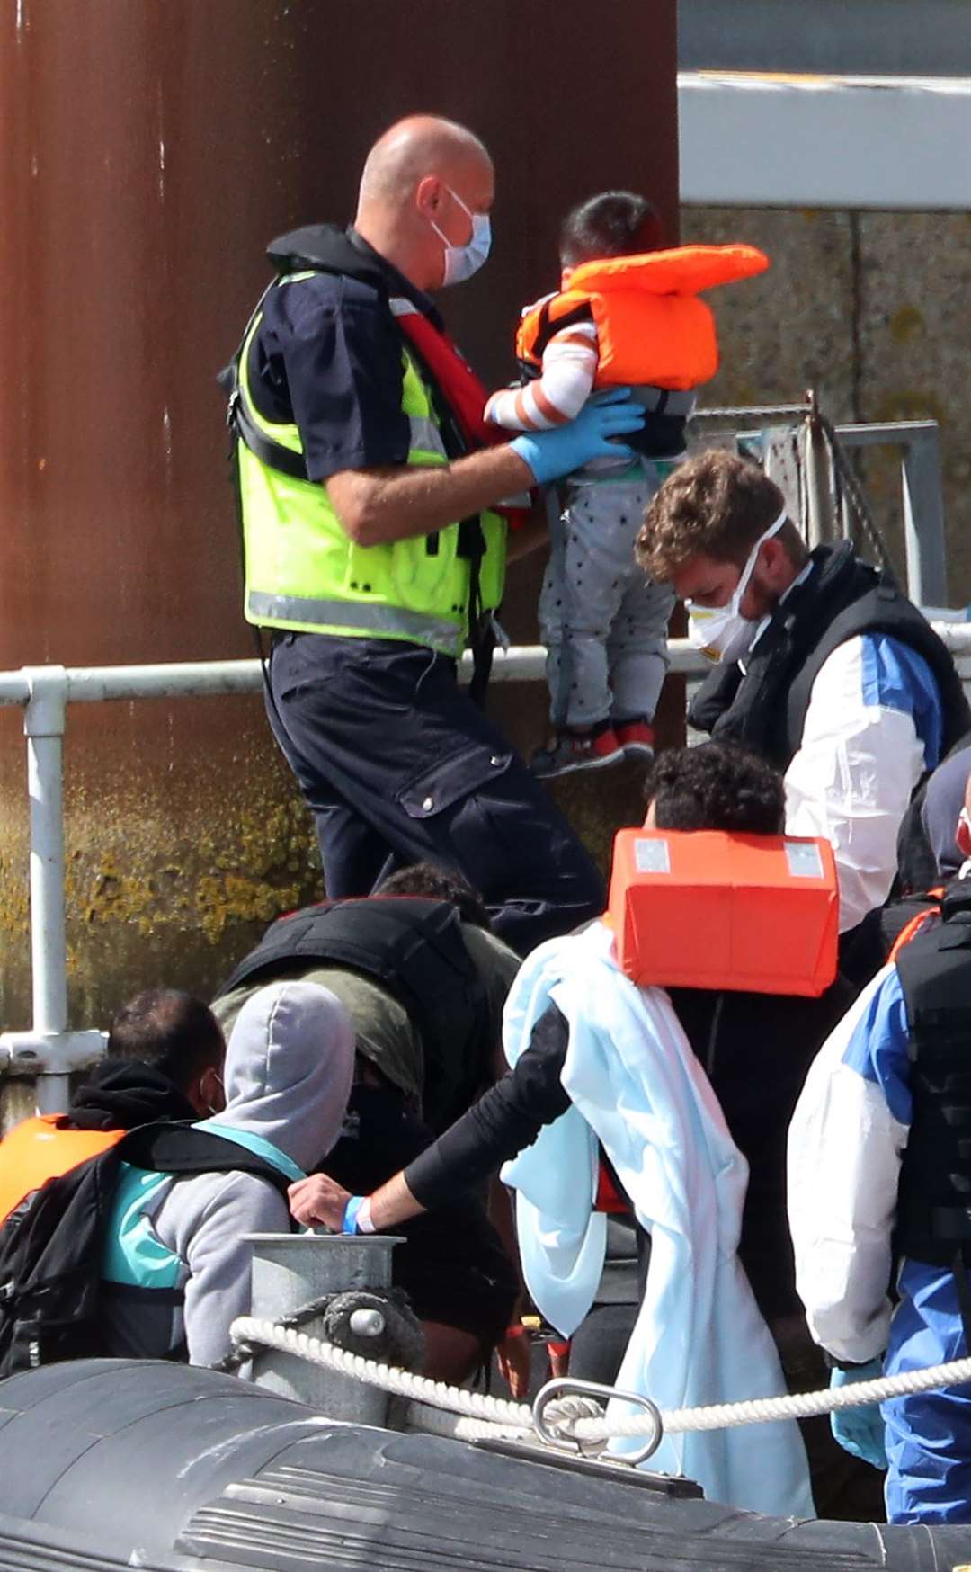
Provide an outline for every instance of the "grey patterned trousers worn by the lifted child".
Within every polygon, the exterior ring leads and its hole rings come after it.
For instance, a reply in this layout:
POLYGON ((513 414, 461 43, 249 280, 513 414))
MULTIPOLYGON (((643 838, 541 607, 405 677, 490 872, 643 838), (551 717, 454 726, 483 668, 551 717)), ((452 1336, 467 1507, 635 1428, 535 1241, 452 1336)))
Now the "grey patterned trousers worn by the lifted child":
POLYGON ((562 512, 551 509, 539 630, 558 728, 654 717, 674 591, 646 577, 633 542, 672 465, 641 462, 636 479, 569 481, 562 512))

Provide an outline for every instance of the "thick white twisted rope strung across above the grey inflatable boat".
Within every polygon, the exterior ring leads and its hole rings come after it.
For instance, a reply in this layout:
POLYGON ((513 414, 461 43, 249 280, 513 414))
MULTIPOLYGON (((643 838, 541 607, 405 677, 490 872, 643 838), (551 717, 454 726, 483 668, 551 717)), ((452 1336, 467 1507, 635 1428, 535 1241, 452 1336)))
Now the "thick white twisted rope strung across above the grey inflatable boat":
MULTIPOLYGON (((523 1432, 533 1432, 533 1410, 528 1404, 511 1402, 506 1398, 489 1398, 486 1393, 467 1391, 462 1387, 449 1387, 446 1382, 431 1380, 427 1376, 413 1376, 410 1371, 396 1369, 391 1364, 377 1364, 360 1353, 349 1353, 332 1342, 322 1342, 305 1331, 291 1327, 280 1327, 273 1320, 256 1320, 242 1316, 233 1322, 231 1336, 234 1342, 259 1342, 264 1347, 278 1349, 283 1353, 295 1353, 310 1360, 311 1364, 322 1364, 325 1369, 338 1371, 341 1376, 354 1376, 357 1380, 380 1387, 382 1391, 398 1398, 410 1398, 413 1404, 431 1405, 426 1412, 415 1413, 415 1420, 423 1423, 432 1412, 442 1409, 453 1415, 464 1415, 467 1421, 489 1421, 487 1426, 471 1432, 471 1426, 462 1434, 445 1423, 437 1434, 459 1435, 465 1440, 478 1438, 479 1434, 496 1434, 500 1426, 509 1437, 522 1438, 523 1432)), ((938 1387, 962 1387, 971 1382, 971 1358, 951 1360, 947 1364, 930 1364, 921 1371, 905 1371, 900 1376, 881 1376, 878 1380, 853 1382, 848 1387, 826 1388, 825 1391, 793 1393, 786 1398, 753 1398, 748 1402, 718 1402, 704 1409, 671 1409, 661 1413, 666 1434, 683 1431, 723 1431, 734 1424, 767 1424, 775 1420, 808 1420, 819 1413, 833 1413, 836 1409, 858 1409, 867 1402, 883 1402, 886 1398, 903 1398, 910 1393, 933 1391, 938 1387)), ((547 1423, 562 1429, 564 1437, 578 1442, 605 1442, 611 1437, 644 1435, 650 1429, 644 1415, 595 1418, 580 1416, 580 1404, 588 1399, 558 1398, 548 1404, 547 1423)), ((434 1421, 438 1424, 438 1421, 434 1421)), ((424 1426, 432 1427, 432 1421, 424 1426)))

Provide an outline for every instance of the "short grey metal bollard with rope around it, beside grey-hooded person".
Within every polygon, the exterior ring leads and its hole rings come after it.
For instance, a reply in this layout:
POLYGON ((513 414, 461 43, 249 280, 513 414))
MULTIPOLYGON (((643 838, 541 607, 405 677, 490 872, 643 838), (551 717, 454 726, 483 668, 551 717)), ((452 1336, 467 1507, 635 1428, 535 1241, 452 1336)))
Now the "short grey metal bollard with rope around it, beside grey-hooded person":
MULTIPOLYGON (((250 1234, 253 1245, 253 1314, 278 1320, 325 1294, 391 1286, 390 1234, 250 1234)), ((322 1336, 322 1317, 300 1328, 322 1336)), ((383 1424, 388 1396, 377 1387, 310 1364, 294 1353, 267 1349, 256 1357, 255 1380, 283 1398, 306 1402, 330 1420, 383 1424)))

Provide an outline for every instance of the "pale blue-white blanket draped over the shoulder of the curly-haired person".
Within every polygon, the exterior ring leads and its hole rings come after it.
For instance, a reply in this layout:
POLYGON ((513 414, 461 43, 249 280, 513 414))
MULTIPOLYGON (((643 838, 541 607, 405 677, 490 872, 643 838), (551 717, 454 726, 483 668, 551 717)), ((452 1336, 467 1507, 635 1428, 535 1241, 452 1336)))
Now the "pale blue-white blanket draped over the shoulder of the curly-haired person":
MULTIPOLYGON (((597 923, 540 945, 522 967, 504 1014, 511 1064, 548 1003, 570 1025, 562 1085, 573 1107, 503 1168, 517 1192, 536 1305, 564 1336, 592 1305, 606 1232, 592 1210, 600 1141, 652 1239, 617 1387, 658 1409, 784 1393, 775 1342, 735 1254, 748 1165, 671 1000, 617 970, 611 934, 597 923)), ((610 1413, 632 1412, 611 1402, 610 1413)), ((611 1451, 636 1446, 617 1440, 611 1451)), ((815 1515, 795 1421, 666 1435, 646 1467, 696 1479, 713 1501, 815 1515)))

